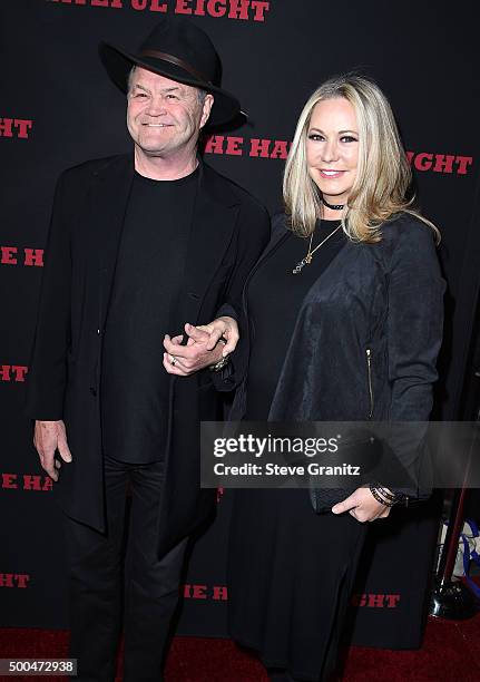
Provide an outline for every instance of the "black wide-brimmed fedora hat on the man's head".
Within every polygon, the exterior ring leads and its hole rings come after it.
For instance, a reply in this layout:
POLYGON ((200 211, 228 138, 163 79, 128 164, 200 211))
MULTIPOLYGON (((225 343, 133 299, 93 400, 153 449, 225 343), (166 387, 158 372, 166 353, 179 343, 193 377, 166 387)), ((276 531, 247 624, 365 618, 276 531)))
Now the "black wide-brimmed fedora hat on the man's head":
POLYGON ((212 92, 215 104, 209 126, 232 121, 241 114, 238 100, 221 87, 221 60, 208 36, 182 17, 164 17, 133 53, 100 42, 100 59, 111 80, 123 92, 128 90, 128 75, 139 66, 172 80, 212 92))

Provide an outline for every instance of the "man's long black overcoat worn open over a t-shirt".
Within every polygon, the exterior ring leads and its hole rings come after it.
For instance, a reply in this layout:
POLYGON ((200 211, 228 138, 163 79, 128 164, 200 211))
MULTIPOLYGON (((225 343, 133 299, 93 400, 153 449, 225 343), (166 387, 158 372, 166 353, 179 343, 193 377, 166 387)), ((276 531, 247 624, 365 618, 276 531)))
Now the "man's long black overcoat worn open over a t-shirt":
MULTIPOLYGON (((133 156, 87 162, 59 179, 30 362, 28 413, 63 419, 72 464, 56 484, 70 517, 105 530, 100 423, 102 338, 128 195, 133 156)), ((151 220, 161 221, 161 206, 151 220)), ((180 294, 170 334, 238 310, 245 279, 270 236, 265 208, 202 163, 180 294), (233 309, 233 310, 232 310, 233 309)), ((151 301, 155 306, 155 301, 151 301)), ((163 339, 158 339, 163 353, 163 339)), ((218 418, 212 372, 170 377, 159 552, 188 535, 210 509, 199 489, 199 421, 218 418)))

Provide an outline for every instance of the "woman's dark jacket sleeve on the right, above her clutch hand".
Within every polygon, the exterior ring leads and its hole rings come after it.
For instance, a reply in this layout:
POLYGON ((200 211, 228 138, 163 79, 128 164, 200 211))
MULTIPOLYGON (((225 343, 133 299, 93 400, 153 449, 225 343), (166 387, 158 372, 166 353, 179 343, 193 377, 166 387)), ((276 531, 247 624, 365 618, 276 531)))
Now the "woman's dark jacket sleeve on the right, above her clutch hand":
POLYGON ((431 491, 431 465, 424 446, 438 379, 444 289, 431 228, 418 220, 405 223, 388 274, 388 440, 413 483, 398 490, 413 498, 425 498, 431 491))

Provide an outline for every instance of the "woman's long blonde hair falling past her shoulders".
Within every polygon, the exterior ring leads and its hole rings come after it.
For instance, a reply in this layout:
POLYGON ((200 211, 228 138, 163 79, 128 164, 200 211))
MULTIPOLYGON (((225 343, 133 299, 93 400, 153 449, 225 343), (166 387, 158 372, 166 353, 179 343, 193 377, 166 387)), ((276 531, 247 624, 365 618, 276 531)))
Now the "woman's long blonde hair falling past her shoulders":
POLYGON ((406 198, 412 172, 386 97, 376 84, 354 75, 339 76, 321 85, 300 115, 283 179, 292 230, 308 236, 322 215, 321 194, 308 174, 306 137, 319 101, 341 97, 353 106, 359 128, 356 178, 342 217, 345 234, 356 242, 378 242, 382 223, 403 211, 427 223, 439 241, 440 233, 433 223, 412 208, 414 196, 406 198))

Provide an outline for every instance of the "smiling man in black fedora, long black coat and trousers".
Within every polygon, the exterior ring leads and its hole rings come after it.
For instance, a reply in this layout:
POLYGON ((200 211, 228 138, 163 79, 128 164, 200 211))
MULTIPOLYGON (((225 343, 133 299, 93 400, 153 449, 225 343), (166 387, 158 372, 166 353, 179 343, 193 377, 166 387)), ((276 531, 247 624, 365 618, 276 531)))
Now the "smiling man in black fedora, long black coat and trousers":
POLYGON ((80 680, 115 678, 130 490, 124 679, 138 682, 161 679, 185 545, 213 508, 199 421, 219 417, 270 223, 198 158, 200 130, 239 115, 200 29, 166 17, 138 52, 102 43, 100 57, 127 94, 134 154, 60 176, 28 405, 65 512, 80 680))

